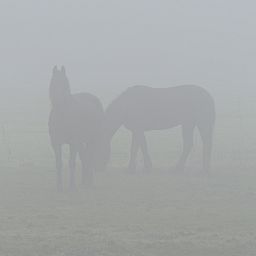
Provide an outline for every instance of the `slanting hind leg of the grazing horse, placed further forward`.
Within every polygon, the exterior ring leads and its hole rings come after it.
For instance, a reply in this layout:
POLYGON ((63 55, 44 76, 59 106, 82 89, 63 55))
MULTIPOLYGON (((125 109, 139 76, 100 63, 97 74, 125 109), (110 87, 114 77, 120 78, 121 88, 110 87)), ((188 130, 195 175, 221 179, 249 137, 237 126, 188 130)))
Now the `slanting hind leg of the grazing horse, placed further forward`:
POLYGON ((183 152, 176 165, 176 171, 184 171, 186 161, 193 147, 194 128, 195 126, 193 124, 185 124, 182 126, 183 152))

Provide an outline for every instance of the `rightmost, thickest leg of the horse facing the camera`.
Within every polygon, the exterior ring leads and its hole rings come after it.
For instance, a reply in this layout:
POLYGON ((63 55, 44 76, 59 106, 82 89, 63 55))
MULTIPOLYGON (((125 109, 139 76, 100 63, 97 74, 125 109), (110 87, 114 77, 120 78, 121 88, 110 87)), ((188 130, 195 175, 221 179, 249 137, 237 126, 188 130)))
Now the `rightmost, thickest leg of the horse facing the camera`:
POLYGON ((93 184, 93 155, 91 154, 90 147, 87 146, 87 149, 85 149, 84 145, 80 145, 78 152, 82 164, 82 185, 91 186, 93 184))

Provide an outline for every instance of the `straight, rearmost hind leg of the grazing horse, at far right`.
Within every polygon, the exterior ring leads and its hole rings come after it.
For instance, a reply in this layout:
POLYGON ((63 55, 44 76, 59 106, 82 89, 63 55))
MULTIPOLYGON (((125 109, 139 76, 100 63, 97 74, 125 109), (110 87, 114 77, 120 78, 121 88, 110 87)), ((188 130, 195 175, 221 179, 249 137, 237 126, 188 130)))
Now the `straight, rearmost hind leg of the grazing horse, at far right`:
POLYGON ((212 154, 213 126, 210 124, 199 124, 198 129, 203 142, 203 171, 209 172, 212 154))

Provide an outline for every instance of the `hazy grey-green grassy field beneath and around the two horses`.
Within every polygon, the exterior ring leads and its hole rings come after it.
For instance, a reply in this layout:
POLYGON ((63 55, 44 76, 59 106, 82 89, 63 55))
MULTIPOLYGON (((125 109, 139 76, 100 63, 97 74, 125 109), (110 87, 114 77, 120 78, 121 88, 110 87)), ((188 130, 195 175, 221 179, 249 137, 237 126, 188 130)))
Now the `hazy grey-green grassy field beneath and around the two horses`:
POLYGON ((254 256, 256 123, 252 115, 225 115, 216 124, 210 176, 197 174, 198 134, 187 171, 168 173, 180 154, 179 129, 147 134, 151 174, 140 166, 125 173, 130 137, 122 129, 94 187, 81 188, 77 170, 70 192, 65 168, 58 193, 47 114, 14 113, 1 135, 0 255, 254 256))

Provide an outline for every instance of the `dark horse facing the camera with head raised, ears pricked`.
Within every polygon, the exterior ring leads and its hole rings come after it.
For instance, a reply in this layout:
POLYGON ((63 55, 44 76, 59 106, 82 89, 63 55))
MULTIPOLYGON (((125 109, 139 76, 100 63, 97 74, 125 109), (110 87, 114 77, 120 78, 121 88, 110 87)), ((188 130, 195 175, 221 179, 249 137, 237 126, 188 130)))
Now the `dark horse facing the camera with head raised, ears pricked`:
POLYGON ((70 147, 70 187, 74 186, 76 156, 82 163, 82 183, 91 185, 95 153, 102 134, 103 107, 89 93, 71 94, 65 68, 55 66, 49 88, 52 109, 49 117, 49 134, 55 152, 57 186, 62 188, 62 145, 70 147))

